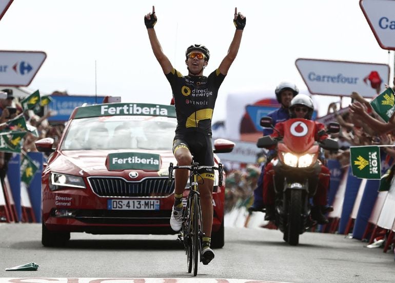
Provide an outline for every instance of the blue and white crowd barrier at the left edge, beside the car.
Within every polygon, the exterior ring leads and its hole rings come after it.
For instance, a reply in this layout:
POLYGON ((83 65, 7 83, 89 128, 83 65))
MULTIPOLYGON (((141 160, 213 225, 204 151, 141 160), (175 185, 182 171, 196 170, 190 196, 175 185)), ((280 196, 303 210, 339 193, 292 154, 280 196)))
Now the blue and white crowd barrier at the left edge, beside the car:
POLYGON ((29 186, 21 180, 21 155, 13 154, 8 163, 8 172, 0 184, 0 221, 41 223, 41 173, 44 155, 29 152, 38 170, 34 173, 29 186))

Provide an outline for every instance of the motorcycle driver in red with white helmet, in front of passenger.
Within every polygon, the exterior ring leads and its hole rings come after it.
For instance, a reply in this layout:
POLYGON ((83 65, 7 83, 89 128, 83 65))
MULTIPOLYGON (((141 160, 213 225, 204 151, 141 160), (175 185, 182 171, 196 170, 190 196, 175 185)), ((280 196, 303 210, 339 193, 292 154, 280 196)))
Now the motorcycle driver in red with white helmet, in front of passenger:
MULTIPOLYGON (((311 120, 311 116, 314 111, 312 99, 306 94, 298 94, 292 98, 289 105, 290 118, 305 118, 311 120)), ((328 134, 325 131, 325 126, 322 123, 315 123, 314 139, 316 141, 322 141, 328 138, 328 134)), ((271 137, 279 137, 284 135, 284 123, 278 123, 275 125, 277 131, 273 131, 271 137)), ((268 163, 265 167, 263 177, 263 200, 266 205, 266 220, 274 220, 274 184, 273 184, 273 164, 268 163)), ((317 191, 313 197, 313 207, 311 208, 311 217, 317 220, 319 224, 327 224, 328 220, 322 211, 325 210, 327 204, 327 192, 329 187, 330 171, 329 169, 321 164, 321 172, 319 174, 319 182, 317 191)))

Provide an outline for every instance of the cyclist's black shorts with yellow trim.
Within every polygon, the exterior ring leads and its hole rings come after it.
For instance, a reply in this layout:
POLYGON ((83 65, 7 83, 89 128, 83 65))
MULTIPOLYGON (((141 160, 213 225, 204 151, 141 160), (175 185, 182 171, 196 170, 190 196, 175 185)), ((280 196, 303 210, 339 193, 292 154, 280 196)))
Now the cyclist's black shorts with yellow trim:
MULTIPOLYGON (((200 132, 176 133, 173 140, 173 153, 179 148, 188 149, 193 156, 193 161, 198 162, 199 166, 214 166, 211 136, 200 132)), ((204 169, 200 174, 203 179, 214 179, 212 169, 204 169)))

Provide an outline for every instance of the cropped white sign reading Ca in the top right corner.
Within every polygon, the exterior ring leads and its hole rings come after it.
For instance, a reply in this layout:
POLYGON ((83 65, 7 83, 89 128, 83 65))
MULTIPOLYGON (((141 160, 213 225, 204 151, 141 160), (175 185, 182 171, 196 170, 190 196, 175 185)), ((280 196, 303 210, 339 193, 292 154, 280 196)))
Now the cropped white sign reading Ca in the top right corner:
POLYGON ((395 1, 360 0, 360 7, 380 47, 395 50, 395 1))

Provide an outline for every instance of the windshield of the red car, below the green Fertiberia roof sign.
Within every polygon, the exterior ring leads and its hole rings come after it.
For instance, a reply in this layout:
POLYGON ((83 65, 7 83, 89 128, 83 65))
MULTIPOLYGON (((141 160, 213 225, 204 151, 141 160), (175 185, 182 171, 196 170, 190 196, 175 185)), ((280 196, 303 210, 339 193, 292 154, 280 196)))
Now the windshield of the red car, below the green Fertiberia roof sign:
POLYGON ((105 116, 73 119, 61 150, 171 150, 176 119, 105 116))

